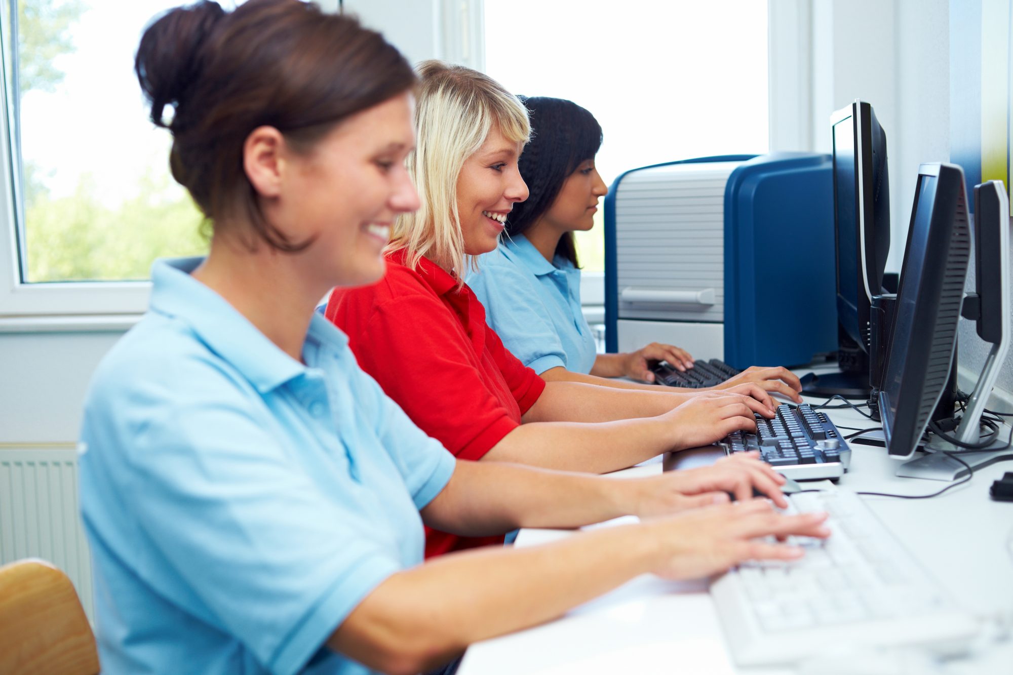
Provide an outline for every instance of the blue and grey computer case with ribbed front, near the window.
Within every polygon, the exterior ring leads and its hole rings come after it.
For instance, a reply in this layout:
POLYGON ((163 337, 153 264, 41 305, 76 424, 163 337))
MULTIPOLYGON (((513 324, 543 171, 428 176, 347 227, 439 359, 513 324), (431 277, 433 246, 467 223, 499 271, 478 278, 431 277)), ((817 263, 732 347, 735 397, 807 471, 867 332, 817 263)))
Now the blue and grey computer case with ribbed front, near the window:
MULTIPOLYGON (((622 330, 635 329, 637 340, 659 334, 650 340, 674 344, 680 344, 681 333, 703 335, 707 347, 695 351, 716 351, 701 353, 700 357, 717 356, 736 368, 801 365, 820 354, 834 352, 837 310, 833 197, 832 160, 830 155, 821 154, 702 157, 620 175, 605 200, 608 351, 618 351, 622 330), (692 185, 708 184, 713 193, 717 184, 716 194, 720 194, 720 183, 713 179, 681 181, 683 176, 676 169, 692 168, 699 173, 696 166, 701 170, 714 167, 715 175, 726 176, 720 178, 725 180, 723 204, 711 199, 712 209, 701 216, 699 225, 710 246, 708 249, 701 244, 704 252, 699 259, 712 262, 682 262, 689 272, 665 281, 661 278, 668 271, 651 266, 657 264, 657 251, 678 250, 679 240, 665 240, 666 210, 671 211, 672 222, 681 223, 681 236, 685 237, 685 214, 693 213, 693 209, 684 205, 706 203, 705 199, 696 199, 692 185), (651 192, 644 185, 649 185, 651 192), (653 219, 647 225, 643 224, 644 213, 653 219), (715 213, 723 213, 723 218, 715 213), (644 231, 636 232, 636 228, 644 231), (656 239, 657 245, 649 250, 634 245, 645 237, 656 239), (723 250, 723 259, 719 253, 708 256, 709 250, 723 250), (715 282, 718 268, 723 268, 723 274, 718 274, 715 282), (659 270, 659 279, 652 289, 644 279, 653 269, 659 270), (648 292, 664 296, 664 289, 686 284, 693 276, 692 270, 699 270, 701 276, 709 275, 707 285, 716 287, 709 289, 712 293, 707 297, 715 298, 709 300, 709 307, 655 304, 645 308, 621 300, 629 290, 620 288, 624 279, 635 278, 648 292), (706 339, 708 334, 712 339, 706 339)), ((686 259, 683 256, 674 265, 678 267, 680 260, 686 259)), ((674 297, 680 292, 685 293, 676 290, 674 297)))

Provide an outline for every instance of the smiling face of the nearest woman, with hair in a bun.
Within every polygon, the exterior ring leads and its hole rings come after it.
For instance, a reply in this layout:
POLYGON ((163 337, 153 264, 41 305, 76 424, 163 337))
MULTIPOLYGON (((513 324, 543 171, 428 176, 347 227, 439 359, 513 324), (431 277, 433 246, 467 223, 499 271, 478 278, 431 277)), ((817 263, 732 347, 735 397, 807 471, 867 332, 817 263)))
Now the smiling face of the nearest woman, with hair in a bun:
POLYGON ((418 208, 404 165, 412 111, 404 93, 344 120, 308 153, 283 154, 277 222, 296 240, 315 237, 300 260, 307 274, 331 286, 383 277, 394 217, 418 208))

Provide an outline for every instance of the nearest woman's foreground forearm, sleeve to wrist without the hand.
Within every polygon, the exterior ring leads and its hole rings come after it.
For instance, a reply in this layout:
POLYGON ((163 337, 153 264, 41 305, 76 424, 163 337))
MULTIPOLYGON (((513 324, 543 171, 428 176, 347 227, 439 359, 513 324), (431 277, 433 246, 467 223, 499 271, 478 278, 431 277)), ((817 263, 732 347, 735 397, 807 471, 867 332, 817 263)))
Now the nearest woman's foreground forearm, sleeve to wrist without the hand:
POLYGON ((659 565, 648 525, 582 533, 547 546, 444 555, 389 577, 328 645, 369 667, 417 673, 475 642, 543 623, 659 565))

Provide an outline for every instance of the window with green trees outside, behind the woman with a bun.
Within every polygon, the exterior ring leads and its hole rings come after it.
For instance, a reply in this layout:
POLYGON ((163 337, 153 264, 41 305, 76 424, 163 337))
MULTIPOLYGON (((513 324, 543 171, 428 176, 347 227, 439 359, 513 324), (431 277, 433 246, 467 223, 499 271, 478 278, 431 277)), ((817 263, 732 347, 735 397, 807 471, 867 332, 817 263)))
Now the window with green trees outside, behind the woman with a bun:
POLYGON ((147 284, 124 282, 147 280, 156 257, 208 246, 200 212, 169 174, 169 134, 148 120, 133 71, 144 27, 180 3, 5 4, 3 141, 14 227, 4 242, 12 250, 0 245, 0 254, 14 269, 0 282, 0 311, 143 311, 147 284))

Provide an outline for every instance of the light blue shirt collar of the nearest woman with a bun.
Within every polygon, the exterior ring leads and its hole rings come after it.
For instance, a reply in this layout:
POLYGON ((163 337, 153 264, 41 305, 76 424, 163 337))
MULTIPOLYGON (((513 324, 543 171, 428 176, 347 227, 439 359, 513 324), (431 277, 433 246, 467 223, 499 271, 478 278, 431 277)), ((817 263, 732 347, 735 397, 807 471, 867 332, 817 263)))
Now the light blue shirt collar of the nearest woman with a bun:
MULTIPOLYGON (((151 310, 185 322, 213 352, 232 364, 261 393, 306 372, 213 290, 190 273, 203 257, 156 260, 151 270, 151 310)), ((317 312, 310 320, 304 358, 321 348, 340 350, 347 336, 317 312), (316 349, 308 350, 312 346, 316 349)), ((309 360, 308 360, 309 361, 309 360)))

